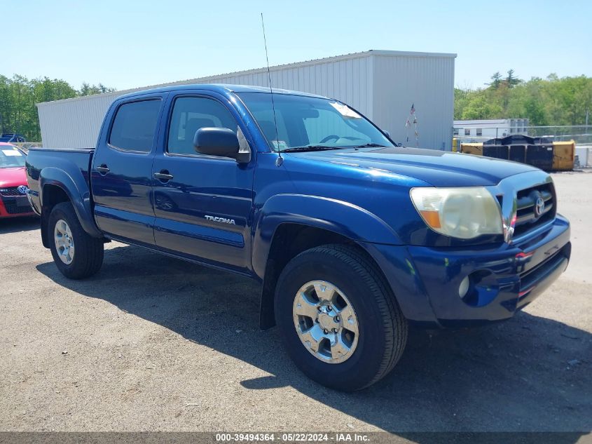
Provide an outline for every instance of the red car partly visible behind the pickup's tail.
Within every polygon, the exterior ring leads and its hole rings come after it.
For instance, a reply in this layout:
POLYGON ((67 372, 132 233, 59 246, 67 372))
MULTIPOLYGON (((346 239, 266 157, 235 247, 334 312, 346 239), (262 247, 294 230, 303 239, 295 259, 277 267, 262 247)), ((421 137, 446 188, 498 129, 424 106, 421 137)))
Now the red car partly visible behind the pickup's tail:
POLYGON ((14 145, 0 142, 0 219, 34 214, 27 199, 25 155, 14 145))

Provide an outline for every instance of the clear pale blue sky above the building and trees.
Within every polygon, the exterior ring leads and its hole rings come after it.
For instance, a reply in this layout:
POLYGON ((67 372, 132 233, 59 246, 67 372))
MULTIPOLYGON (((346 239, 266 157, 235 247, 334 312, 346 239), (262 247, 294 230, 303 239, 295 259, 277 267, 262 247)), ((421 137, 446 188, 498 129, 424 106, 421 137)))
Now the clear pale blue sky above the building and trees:
POLYGON ((457 53, 455 85, 495 71, 592 76, 592 1, 2 0, 0 74, 118 90, 369 49, 457 53), (21 21, 22 20, 22 21, 21 21))

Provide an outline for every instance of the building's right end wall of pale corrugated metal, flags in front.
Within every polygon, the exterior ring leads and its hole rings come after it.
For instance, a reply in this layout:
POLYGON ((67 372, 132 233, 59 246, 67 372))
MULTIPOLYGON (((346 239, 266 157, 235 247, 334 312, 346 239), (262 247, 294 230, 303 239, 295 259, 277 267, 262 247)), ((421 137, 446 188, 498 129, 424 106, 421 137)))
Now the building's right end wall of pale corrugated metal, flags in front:
POLYGON ((415 147, 411 105, 418 119, 419 147, 452 148, 453 55, 376 55, 373 121, 393 140, 415 147), (410 119, 411 128, 405 127, 410 119), (406 137, 409 138, 408 142, 406 137))

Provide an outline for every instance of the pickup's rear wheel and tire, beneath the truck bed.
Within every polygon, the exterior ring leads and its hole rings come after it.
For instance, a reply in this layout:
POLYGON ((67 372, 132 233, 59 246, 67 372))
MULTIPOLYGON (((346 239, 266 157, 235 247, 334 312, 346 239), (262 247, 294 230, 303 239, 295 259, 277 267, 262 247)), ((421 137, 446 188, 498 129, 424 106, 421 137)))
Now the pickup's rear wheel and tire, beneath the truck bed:
POLYGON ((67 278, 88 278, 101 268, 103 241, 84 231, 71 203, 62 202, 53 207, 47 236, 53 262, 67 278))

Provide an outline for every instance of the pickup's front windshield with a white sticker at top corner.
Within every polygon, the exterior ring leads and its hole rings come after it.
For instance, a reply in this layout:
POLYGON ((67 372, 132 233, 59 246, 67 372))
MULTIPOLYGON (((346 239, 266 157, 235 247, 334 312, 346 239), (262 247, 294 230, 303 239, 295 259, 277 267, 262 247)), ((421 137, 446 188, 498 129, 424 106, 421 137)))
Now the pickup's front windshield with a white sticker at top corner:
POLYGON ((237 94, 253 114, 274 151, 295 147, 331 149, 371 146, 392 147, 387 137, 347 105, 336 100, 302 95, 237 94))

